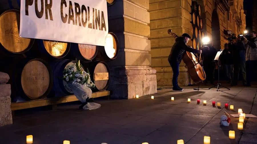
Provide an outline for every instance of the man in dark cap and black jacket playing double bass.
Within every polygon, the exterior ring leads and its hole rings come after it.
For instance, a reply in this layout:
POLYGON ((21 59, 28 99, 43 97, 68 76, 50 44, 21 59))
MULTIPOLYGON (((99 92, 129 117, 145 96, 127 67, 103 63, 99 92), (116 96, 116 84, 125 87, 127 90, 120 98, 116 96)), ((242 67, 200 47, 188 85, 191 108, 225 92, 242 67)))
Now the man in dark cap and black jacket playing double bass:
POLYGON ((178 74, 179 74, 179 65, 187 52, 201 54, 202 50, 193 49, 191 46, 187 46, 186 44, 190 40, 191 36, 189 34, 182 34, 182 36, 176 38, 174 45, 171 48, 170 55, 168 57, 168 61, 173 71, 172 78, 172 90, 174 91, 183 91, 182 88, 178 86, 178 74))

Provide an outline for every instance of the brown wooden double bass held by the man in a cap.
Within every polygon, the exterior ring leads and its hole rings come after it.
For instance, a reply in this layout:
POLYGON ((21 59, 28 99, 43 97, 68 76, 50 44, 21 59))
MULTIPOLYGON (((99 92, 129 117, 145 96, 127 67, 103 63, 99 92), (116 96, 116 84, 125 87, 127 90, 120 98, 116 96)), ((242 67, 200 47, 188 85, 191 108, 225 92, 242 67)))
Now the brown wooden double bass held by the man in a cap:
MULTIPOLYGON (((174 38, 178 38, 176 34, 171 32, 171 29, 168 29, 168 34, 170 34, 174 38)), ((188 73, 195 83, 200 83, 206 79, 206 74, 204 72, 202 60, 200 60, 200 58, 197 60, 196 54, 193 54, 192 52, 186 52, 183 57, 183 61, 188 67, 188 73)))

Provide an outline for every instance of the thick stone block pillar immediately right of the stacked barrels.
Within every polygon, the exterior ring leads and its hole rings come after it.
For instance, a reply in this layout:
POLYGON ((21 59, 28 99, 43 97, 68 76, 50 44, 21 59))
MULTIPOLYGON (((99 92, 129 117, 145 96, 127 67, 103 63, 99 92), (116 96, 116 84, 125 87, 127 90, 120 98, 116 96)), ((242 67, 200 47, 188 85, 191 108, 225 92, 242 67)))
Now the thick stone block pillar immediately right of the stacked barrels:
POLYGON ((112 98, 135 98, 157 92, 156 70, 150 67, 149 0, 116 0, 108 8, 109 32, 119 40, 119 55, 108 64, 112 98))

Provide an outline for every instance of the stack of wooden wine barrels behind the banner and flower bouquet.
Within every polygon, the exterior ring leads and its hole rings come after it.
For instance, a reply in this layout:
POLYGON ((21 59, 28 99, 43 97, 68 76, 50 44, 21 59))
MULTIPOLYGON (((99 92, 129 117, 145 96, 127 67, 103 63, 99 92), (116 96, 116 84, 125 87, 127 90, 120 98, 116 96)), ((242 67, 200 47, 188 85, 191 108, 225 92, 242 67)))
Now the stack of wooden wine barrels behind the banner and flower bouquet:
POLYGON ((108 88, 110 71, 106 62, 119 53, 114 33, 109 32, 105 46, 21 38, 20 0, 2 0, 0 4, 0 71, 10 75, 12 102, 73 95, 60 77, 76 58, 85 71, 89 69, 96 85, 93 91, 108 88))

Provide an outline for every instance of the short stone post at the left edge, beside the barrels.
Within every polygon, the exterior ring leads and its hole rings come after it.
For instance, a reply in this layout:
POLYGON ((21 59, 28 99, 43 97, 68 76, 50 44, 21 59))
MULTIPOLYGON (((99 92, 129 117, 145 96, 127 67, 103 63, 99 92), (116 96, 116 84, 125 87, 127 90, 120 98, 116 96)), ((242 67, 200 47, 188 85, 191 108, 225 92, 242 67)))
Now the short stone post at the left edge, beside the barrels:
POLYGON ((0 72, 0 126, 13 124, 11 112, 11 85, 9 75, 0 72))

